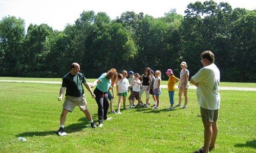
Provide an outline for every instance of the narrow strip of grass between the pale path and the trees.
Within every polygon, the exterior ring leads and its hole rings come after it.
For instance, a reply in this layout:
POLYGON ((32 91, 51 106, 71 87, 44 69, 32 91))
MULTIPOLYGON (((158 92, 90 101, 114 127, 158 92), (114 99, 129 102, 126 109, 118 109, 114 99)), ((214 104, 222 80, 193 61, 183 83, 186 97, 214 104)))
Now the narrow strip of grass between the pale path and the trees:
MULTIPOLYGON (((0 77, 0 80, 22 80, 22 81, 59 81, 61 78, 16 78, 16 77, 0 77)), ((94 82, 95 79, 87 79, 87 82, 94 82)), ((161 85, 167 85, 167 81, 162 81, 161 85)), ((178 85, 178 83, 176 84, 178 85)), ((249 87, 256 88, 256 83, 240 83, 240 82, 221 82, 222 87, 249 87)), ((193 86, 190 84, 190 86, 193 86)))

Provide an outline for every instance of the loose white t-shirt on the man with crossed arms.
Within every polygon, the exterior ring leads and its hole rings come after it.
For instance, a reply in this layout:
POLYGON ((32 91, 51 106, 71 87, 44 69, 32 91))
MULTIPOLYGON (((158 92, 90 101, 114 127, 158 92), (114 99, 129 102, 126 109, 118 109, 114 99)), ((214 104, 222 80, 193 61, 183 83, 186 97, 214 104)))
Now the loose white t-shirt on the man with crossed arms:
POLYGON ((220 70, 212 63, 201 68, 192 78, 197 87, 197 99, 199 106, 207 110, 220 108, 220 70))

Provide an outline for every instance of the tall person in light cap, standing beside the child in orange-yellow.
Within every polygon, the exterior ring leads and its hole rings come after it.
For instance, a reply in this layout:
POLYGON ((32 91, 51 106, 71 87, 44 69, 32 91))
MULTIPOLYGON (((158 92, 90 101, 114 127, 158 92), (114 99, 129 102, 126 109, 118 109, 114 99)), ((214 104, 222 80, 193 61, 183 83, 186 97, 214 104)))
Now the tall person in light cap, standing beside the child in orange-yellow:
POLYGON ((188 77, 189 77, 189 71, 187 70, 187 63, 186 62, 181 62, 181 71, 180 71, 180 83, 179 83, 179 103, 176 104, 177 106, 181 106, 181 101, 182 101, 182 93, 184 94, 185 97, 185 104, 182 106, 182 109, 187 108, 187 88, 188 88, 188 77))

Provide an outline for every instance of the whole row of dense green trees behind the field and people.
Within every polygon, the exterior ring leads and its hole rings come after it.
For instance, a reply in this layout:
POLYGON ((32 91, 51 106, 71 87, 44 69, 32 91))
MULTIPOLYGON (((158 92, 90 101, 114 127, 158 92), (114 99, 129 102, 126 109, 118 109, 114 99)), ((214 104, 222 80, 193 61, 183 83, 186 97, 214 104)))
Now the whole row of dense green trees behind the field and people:
POLYGON ((214 1, 187 5, 185 15, 175 9, 154 18, 143 12, 122 13, 116 19, 83 11, 63 31, 47 24, 30 24, 5 16, 0 21, 0 75, 62 77, 72 62, 87 78, 110 68, 143 73, 145 67, 164 72, 187 62, 190 76, 201 67, 200 54, 211 50, 222 82, 255 82, 256 10, 232 9, 214 1))

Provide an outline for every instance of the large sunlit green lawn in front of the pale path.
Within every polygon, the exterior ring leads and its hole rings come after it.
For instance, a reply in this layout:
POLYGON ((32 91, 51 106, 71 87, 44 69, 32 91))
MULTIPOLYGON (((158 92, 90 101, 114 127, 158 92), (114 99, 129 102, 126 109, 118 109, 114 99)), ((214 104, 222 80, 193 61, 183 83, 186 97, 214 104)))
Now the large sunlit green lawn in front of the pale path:
MULTIPOLYGON (((68 136, 60 137, 55 135, 63 103, 57 100, 60 85, 0 82, 0 86, 0 152, 193 152, 203 144, 196 90, 189 90, 185 110, 166 111, 168 94, 163 89, 159 110, 121 110, 120 115, 109 114, 114 119, 102 128, 89 128, 75 108, 67 117, 68 136)), ((97 122, 95 99, 86 94, 97 122)), ((211 152, 256 152, 255 91, 223 90, 221 98, 219 134, 211 152)), ((116 105, 115 99, 115 109, 116 105)))

